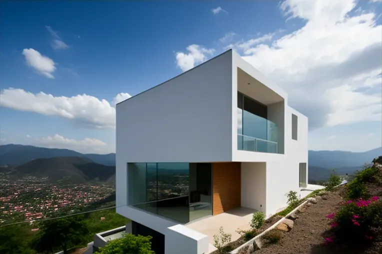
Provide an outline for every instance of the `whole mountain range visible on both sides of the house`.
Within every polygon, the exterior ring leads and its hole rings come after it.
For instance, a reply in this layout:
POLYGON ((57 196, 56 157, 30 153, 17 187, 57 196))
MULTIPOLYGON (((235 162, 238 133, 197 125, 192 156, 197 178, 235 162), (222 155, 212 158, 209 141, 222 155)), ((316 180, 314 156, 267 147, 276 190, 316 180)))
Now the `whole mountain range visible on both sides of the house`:
MULTIPOLYGON (((308 179, 326 180, 332 168, 340 175, 351 174, 380 155, 382 147, 365 152, 309 150, 308 179)), ((15 175, 46 175, 52 180, 68 176, 76 181, 110 181, 114 180, 115 153, 80 153, 69 149, 5 144, 0 145, 0 165, 3 164, 11 165, 17 172, 15 175)))

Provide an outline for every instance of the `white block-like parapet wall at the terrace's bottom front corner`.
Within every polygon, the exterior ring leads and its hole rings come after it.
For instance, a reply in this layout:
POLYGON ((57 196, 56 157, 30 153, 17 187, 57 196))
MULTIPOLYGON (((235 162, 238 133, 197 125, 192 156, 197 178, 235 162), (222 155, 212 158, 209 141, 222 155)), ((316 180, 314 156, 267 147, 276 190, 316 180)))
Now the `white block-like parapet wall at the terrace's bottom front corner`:
POLYGON ((208 236, 177 224, 166 228, 165 254, 208 253, 208 236))

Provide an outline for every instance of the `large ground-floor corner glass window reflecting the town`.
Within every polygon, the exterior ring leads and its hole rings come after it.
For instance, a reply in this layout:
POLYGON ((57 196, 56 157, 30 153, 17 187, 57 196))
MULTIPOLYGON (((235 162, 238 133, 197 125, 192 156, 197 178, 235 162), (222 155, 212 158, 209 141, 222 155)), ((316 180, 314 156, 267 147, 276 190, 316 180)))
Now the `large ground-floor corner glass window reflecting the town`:
POLYGON ((128 204, 187 223, 212 214, 210 163, 128 163, 128 204))

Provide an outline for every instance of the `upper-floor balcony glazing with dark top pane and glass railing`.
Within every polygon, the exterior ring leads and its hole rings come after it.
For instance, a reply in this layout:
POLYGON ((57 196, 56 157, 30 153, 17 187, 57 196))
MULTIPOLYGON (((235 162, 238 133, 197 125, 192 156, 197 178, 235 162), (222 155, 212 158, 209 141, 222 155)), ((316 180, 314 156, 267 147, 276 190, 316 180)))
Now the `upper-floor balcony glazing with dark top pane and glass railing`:
POLYGON ((267 107, 237 92, 237 149, 277 153, 277 126, 267 107))

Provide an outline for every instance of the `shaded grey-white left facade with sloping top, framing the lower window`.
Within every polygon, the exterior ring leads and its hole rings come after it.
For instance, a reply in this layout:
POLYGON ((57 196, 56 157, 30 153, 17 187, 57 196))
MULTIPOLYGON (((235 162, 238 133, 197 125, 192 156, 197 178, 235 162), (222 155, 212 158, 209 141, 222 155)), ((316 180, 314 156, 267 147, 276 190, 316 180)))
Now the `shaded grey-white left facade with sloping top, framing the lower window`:
POLYGON ((166 236, 178 222, 127 206, 127 162, 230 161, 230 51, 116 106, 116 212, 166 236))

